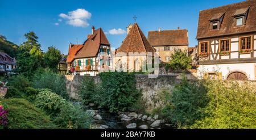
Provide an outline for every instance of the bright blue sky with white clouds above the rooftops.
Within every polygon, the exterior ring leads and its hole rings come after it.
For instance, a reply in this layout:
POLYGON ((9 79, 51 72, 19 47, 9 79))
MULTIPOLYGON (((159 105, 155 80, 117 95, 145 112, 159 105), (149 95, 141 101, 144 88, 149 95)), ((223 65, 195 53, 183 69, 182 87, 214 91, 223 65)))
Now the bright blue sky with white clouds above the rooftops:
POLYGON ((111 46, 118 48, 126 36, 123 30, 136 15, 146 37, 158 28, 180 27, 188 29, 189 46, 195 46, 199 11, 236 2, 241 0, 0 0, 0 35, 19 45, 24 33, 34 31, 44 51, 53 45, 67 54, 69 43, 77 44, 78 39, 81 44, 93 25, 108 32, 111 46))

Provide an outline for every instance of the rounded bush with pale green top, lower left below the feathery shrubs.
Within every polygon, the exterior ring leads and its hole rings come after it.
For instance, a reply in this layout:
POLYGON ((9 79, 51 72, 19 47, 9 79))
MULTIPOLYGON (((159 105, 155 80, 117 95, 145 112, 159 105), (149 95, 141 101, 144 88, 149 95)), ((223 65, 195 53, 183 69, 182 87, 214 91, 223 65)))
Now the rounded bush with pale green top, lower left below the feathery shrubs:
POLYGON ((60 112, 61 107, 66 103, 67 101, 63 99, 63 97, 47 89, 40 91, 39 94, 36 95, 35 100, 36 107, 43 109, 52 116, 56 116, 57 113, 60 112))

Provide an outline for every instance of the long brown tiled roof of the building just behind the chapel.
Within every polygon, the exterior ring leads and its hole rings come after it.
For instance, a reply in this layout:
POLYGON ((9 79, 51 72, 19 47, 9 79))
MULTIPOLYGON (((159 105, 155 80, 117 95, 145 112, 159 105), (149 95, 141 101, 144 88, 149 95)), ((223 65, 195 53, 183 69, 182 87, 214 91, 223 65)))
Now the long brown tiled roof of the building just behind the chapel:
POLYGON ((152 46, 188 45, 187 29, 149 31, 147 39, 152 46))

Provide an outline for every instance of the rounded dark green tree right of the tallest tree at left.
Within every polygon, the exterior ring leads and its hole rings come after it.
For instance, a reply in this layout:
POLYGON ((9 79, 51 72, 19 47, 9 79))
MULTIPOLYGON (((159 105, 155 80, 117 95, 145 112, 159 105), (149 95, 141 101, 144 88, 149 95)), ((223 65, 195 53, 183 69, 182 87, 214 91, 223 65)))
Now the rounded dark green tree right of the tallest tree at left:
POLYGON ((44 63, 53 71, 57 70, 57 65, 60 62, 61 58, 62 55, 60 53, 60 50, 56 49, 54 46, 48 47, 47 52, 44 53, 44 63))

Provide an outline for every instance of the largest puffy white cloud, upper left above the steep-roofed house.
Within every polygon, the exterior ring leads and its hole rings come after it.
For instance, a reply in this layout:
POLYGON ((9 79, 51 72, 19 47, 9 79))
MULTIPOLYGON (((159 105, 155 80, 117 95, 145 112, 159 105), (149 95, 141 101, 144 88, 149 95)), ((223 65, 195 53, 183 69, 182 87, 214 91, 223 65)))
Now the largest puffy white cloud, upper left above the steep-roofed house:
POLYGON ((92 14, 84 9, 77 9, 74 11, 68 12, 68 15, 61 13, 59 15, 61 18, 67 20, 67 24, 75 27, 88 27, 88 19, 92 14))

